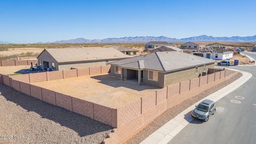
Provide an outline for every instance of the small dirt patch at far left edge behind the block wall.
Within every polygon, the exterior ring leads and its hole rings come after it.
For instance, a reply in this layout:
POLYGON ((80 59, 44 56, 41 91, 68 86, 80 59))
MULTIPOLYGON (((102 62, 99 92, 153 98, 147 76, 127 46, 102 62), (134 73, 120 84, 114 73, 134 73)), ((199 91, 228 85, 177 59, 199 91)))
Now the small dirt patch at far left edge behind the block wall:
POLYGON ((10 75, 10 74, 14 74, 14 73, 25 74, 27 69, 30 69, 30 66, 0 67, 0 74, 4 74, 4 75, 10 75))

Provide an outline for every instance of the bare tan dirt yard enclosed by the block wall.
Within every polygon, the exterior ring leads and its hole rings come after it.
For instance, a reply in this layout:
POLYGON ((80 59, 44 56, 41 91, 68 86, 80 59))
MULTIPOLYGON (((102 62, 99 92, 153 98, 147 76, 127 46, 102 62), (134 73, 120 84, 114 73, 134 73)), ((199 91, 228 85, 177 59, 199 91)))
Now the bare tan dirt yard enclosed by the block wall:
POLYGON ((121 82, 109 75, 90 75, 33 83, 79 99, 117 108, 154 92, 157 87, 121 82))

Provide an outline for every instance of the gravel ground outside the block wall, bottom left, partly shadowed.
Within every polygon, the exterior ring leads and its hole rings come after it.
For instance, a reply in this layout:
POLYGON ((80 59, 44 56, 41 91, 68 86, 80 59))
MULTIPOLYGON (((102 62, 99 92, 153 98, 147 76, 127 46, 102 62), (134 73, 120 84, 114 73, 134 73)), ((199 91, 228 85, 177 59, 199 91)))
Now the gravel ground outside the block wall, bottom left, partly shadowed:
POLYGON ((113 129, 5 85, 0 92, 0 143, 100 143, 113 129))

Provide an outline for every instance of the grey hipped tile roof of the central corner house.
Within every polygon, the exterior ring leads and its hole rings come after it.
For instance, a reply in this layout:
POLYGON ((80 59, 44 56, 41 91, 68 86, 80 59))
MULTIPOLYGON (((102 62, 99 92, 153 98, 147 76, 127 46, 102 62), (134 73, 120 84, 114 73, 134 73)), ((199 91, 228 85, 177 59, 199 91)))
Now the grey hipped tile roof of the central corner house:
POLYGON ((140 55, 134 58, 110 62, 109 64, 121 66, 123 68, 149 69, 165 72, 188 67, 195 67, 207 63, 214 63, 214 61, 192 54, 173 51, 155 52, 147 55, 140 55))

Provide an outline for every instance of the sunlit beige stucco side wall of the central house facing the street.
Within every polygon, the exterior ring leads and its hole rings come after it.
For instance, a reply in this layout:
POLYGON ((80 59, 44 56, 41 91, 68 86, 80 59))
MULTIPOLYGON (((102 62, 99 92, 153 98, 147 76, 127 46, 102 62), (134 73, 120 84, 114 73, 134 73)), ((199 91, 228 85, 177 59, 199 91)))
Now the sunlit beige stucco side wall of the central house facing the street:
MULTIPOLYGON (((209 68, 214 68, 214 64, 206 65, 205 71, 209 68)), ((186 81, 188 79, 196 78, 202 74, 204 66, 198 66, 198 73, 195 74, 196 67, 185 70, 172 71, 164 75, 164 86, 186 81)))

